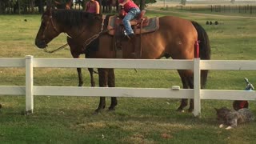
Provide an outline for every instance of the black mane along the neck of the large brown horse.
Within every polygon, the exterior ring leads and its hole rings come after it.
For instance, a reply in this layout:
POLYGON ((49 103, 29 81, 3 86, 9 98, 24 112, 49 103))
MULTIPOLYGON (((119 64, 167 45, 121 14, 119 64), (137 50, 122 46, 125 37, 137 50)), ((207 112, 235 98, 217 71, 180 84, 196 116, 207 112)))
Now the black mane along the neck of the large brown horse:
POLYGON ((91 26, 102 18, 101 14, 90 14, 82 10, 53 10, 52 16, 66 26, 91 26))

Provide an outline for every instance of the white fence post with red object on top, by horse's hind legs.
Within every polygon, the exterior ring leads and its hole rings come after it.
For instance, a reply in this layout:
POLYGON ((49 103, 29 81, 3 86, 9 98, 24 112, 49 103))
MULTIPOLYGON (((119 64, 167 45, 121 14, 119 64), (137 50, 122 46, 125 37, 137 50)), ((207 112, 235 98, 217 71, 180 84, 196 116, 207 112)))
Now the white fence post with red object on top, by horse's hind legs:
POLYGON ((194 58, 194 116, 201 114, 201 79, 200 79, 200 58, 194 58))

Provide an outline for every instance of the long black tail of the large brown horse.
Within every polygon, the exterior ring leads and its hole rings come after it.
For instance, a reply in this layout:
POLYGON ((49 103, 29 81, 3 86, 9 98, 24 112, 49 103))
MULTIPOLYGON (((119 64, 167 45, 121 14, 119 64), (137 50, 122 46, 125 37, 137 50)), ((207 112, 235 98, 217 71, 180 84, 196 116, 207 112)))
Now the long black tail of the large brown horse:
MULTIPOLYGON (((199 41, 199 55, 202 59, 210 59, 210 41, 206 30, 203 29, 198 22, 192 21, 195 29, 198 31, 198 41, 199 41)), ((208 70, 201 70, 201 86, 204 88, 206 86, 208 76, 208 70)))

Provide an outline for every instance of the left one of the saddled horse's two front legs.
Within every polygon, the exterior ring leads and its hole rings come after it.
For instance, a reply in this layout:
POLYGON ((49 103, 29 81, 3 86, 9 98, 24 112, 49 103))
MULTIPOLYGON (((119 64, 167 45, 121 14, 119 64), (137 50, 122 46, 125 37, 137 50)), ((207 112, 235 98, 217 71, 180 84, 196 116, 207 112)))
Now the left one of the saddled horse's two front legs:
MULTIPOLYGON (((107 86, 107 70, 106 69, 98 69, 98 83, 100 87, 107 86)), ((98 104, 98 109, 96 109, 95 112, 96 113, 100 112, 105 108, 105 106, 106 106, 106 98, 101 97, 98 104)))

